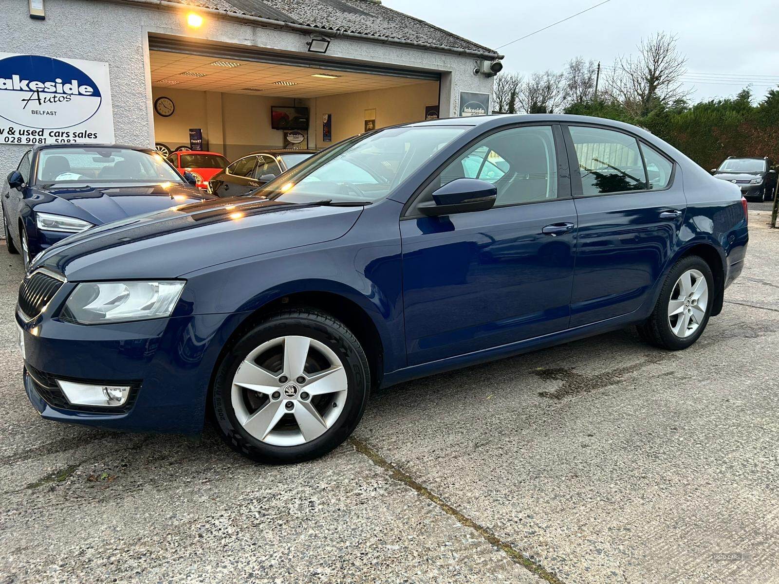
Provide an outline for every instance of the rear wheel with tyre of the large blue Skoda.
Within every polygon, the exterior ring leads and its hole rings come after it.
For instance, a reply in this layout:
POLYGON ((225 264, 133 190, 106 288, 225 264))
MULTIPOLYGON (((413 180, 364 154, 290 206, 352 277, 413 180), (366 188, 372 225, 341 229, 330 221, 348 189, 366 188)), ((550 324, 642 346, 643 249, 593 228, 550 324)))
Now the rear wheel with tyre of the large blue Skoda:
POLYGON ((703 334, 714 301, 714 276, 697 255, 676 262, 665 277, 652 315, 639 334, 656 347, 682 350, 703 334))

